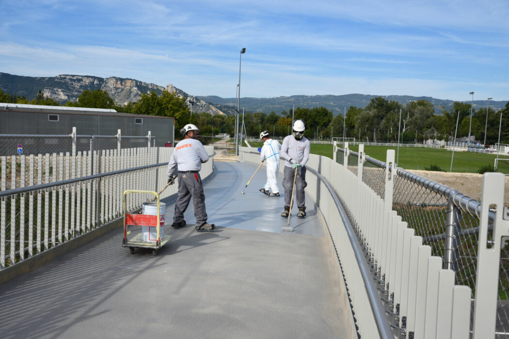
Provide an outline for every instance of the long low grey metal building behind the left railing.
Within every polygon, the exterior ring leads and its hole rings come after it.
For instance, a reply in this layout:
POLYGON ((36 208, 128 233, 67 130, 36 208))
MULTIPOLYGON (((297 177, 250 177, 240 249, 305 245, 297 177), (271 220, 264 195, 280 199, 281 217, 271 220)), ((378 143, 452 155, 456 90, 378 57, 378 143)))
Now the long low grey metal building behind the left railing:
POLYGON ((114 109, 0 103, 0 134, 155 137, 156 146, 174 142, 175 118, 120 113, 114 109))

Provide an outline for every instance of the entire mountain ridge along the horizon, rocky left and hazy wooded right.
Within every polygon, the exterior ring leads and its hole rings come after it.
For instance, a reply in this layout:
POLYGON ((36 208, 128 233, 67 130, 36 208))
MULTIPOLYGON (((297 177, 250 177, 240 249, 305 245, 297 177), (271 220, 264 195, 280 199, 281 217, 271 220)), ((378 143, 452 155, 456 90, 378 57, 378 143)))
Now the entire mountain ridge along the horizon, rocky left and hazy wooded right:
MULTIPOLYGON (((76 102, 83 90, 102 89, 107 91, 111 99, 121 105, 128 102, 139 100, 142 93, 154 91, 158 95, 163 90, 176 93, 186 98, 186 102, 191 106, 193 112, 207 112, 215 114, 235 114, 236 98, 221 98, 218 96, 192 96, 183 90, 168 84, 165 87, 139 81, 130 78, 108 77, 101 78, 88 75, 61 74, 55 77, 29 77, 21 75, 12 75, 0 72, 0 89, 4 92, 24 96, 32 100, 37 96, 39 90, 43 95, 60 103, 67 101, 76 102)), ((274 111, 280 114, 282 111, 289 112, 293 105, 301 108, 325 107, 333 112, 333 115, 343 114, 345 107, 348 110, 350 106, 359 108, 365 107, 371 99, 382 97, 386 100, 397 101, 406 105, 411 101, 428 100, 435 107, 435 113, 440 114, 442 106, 446 110, 453 107, 454 100, 436 99, 432 97, 420 96, 380 96, 364 94, 345 94, 345 95, 293 95, 272 98, 240 98, 240 107, 248 112, 270 113, 274 111)), ((468 101, 467 101, 468 102, 468 101)), ((507 101, 490 101, 490 108, 498 110, 504 108, 507 101)), ((487 100, 474 100, 474 109, 486 108, 487 100)))

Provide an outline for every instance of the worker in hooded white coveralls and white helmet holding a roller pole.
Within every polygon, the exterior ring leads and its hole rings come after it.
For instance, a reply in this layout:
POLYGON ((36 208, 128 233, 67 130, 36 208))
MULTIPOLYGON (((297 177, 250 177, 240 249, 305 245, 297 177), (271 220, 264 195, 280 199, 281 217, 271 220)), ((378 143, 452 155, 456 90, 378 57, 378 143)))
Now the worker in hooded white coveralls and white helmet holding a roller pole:
POLYGON ((260 192, 267 194, 269 197, 279 197, 277 172, 279 172, 279 149, 281 149, 281 144, 270 138, 269 131, 260 133, 260 139, 263 140, 260 160, 267 160, 267 183, 260 189, 260 192))

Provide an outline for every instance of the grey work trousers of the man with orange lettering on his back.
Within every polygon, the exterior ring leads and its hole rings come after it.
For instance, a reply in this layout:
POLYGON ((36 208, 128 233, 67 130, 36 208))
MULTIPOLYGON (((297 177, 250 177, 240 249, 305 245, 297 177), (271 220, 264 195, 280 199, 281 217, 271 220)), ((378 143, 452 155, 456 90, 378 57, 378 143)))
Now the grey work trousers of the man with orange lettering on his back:
POLYGON ((179 173, 178 178, 179 191, 177 194, 177 202, 175 203, 173 222, 179 224, 184 220, 184 212, 192 196, 196 226, 202 226, 207 222, 207 211, 205 210, 205 194, 203 193, 200 173, 179 173))

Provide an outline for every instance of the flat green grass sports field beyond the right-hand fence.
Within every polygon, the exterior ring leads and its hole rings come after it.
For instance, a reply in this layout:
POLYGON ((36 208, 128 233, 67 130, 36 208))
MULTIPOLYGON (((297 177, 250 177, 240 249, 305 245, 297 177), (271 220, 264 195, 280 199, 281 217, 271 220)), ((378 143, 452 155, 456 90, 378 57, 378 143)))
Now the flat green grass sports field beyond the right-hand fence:
MULTIPOLYGON (((251 146, 261 147, 262 143, 250 143, 251 146)), ((350 146, 350 149, 357 152, 358 146, 350 146)), ((366 155, 385 162, 387 149, 394 149, 398 157, 398 149, 386 146, 364 146, 366 155)), ((311 152, 320 156, 332 158, 332 146, 311 144, 311 152)), ((399 166, 404 169, 425 170, 431 165, 437 165, 443 171, 449 172, 450 161, 453 152, 445 149, 436 148, 418 148, 418 147, 400 147, 399 166)), ((499 156, 499 159, 508 159, 508 161, 499 161, 498 171, 509 174, 509 157, 499 156)), ((477 170, 486 165, 495 165, 496 155, 481 154, 473 152, 454 152, 453 172, 477 173, 477 170)))

